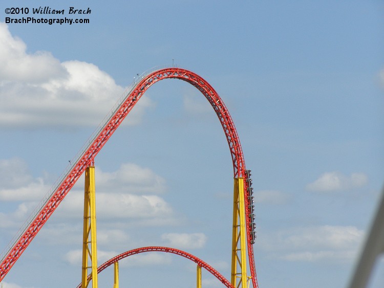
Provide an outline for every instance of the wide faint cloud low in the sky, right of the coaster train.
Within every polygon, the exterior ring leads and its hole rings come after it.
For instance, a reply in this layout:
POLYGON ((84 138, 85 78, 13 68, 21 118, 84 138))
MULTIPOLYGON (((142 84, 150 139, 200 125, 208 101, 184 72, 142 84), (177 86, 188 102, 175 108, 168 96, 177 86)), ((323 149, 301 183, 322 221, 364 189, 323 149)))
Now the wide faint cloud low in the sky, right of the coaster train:
POLYGON ((315 226, 260 233, 259 247, 288 261, 351 261, 364 236, 353 226, 315 226))

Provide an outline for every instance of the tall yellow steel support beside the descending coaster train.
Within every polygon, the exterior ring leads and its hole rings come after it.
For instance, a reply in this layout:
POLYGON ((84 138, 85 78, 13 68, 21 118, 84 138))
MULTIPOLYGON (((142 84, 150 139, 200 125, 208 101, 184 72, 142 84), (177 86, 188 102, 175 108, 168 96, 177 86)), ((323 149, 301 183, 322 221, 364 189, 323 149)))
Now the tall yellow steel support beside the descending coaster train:
POLYGON ((246 239, 245 239, 244 179, 235 178, 233 185, 233 228, 231 283, 246 288, 246 239))

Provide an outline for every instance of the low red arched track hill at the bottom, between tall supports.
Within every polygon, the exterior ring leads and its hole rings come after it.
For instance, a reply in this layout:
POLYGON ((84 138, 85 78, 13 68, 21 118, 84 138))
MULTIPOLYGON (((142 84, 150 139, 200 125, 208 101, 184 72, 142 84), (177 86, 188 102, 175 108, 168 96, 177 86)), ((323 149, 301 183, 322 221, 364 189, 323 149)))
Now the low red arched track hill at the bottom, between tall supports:
MULTIPOLYGON (((112 265, 113 263, 115 263, 117 261, 120 261, 121 259, 124 259, 124 258, 132 256, 132 255, 136 255, 139 253, 144 253, 144 252, 166 252, 166 253, 172 253, 172 254, 182 256, 182 257, 187 258, 191 261, 194 261, 200 267, 204 268, 210 274, 214 275, 226 287, 234 288, 234 286, 223 275, 221 275, 218 271, 216 271, 214 268, 212 268, 209 264, 207 264, 206 262, 204 262, 200 258, 198 258, 192 254, 189 254, 187 252, 184 252, 184 251, 181 251, 178 249, 174 249, 174 248, 168 248, 168 247, 156 247, 156 246, 155 247, 143 247, 143 248, 137 248, 137 249, 133 249, 130 251, 126 251, 124 253, 121 253, 121 254, 113 257, 112 259, 106 261, 105 263, 101 264, 97 268, 97 273, 100 273, 105 268, 109 267, 110 265, 112 265)), ((92 274, 88 275, 88 280, 91 280, 91 279, 92 279, 92 274)), ((81 283, 77 286, 77 288, 81 288, 81 283)))

